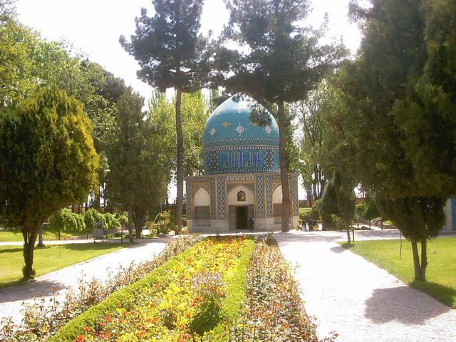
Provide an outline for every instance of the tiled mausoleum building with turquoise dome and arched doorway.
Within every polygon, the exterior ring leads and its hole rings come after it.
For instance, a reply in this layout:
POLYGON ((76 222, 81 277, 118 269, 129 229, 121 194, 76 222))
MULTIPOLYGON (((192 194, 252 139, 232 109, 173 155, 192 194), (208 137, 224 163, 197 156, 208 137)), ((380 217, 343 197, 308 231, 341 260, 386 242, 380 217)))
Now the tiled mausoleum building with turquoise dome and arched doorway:
MULTIPOLYGON (((204 175, 185 179, 190 232, 281 227, 279 127, 263 106, 236 94, 209 116, 204 175)), ((298 224, 298 175, 289 174, 290 225, 298 224)))

